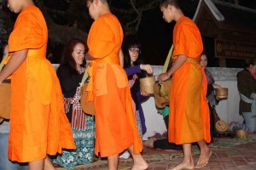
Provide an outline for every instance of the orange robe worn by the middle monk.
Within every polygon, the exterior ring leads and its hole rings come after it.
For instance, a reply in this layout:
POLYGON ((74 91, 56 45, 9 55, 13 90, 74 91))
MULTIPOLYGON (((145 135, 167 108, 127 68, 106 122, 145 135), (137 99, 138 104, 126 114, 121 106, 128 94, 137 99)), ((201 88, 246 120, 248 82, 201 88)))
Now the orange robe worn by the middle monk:
POLYGON ((134 145, 134 153, 143 150, 137 132, 131 93, 124 69, 119 65, 123 30, 113 14, 94 21, 87 39, 90 61, 89 101, 96 110, 95 153, 102 157, 119 154, 134 145))

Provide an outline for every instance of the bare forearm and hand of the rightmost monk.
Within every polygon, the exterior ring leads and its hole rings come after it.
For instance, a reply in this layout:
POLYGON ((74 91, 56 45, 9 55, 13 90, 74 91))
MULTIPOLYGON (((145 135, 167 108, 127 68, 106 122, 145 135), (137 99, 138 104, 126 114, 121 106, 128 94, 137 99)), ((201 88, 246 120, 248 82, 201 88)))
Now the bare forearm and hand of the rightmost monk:
POLYGON ((172 76, 172 74, 179 69, 183 63, 188 59, 187 55, 178 55, 176 61, 173 63, 171 69, 166 73, 160 74, 159 81, 165 81, 172 76))

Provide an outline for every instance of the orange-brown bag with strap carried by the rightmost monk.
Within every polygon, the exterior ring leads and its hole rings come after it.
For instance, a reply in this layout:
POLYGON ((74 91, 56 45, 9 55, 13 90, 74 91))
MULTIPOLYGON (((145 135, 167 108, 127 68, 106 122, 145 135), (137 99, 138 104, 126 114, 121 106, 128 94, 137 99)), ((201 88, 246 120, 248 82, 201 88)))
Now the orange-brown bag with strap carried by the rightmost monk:
MULTIPOLYGON (((172 50, 173 50, 173 45, 167 55, 162 73, 165 73, 167 71, 167 67, 169 65, 169 62, 172 56, 172 50)), ((154 83, 154 103, 156 107, 158 107, 159 109, 163 109, 164 107, 166 107, 166 105, 169 105, 170 90, 171 90, 171 79, 168 79, 164 82, 156 81, 154 83)))

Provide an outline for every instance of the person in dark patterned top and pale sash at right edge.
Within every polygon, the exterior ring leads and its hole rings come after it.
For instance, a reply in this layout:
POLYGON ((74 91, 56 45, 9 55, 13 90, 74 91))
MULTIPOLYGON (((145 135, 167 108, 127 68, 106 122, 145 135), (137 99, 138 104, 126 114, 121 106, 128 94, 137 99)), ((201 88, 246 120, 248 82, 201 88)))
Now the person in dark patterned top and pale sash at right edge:
POLYGON ((256 58, 247 59, 245 69, 237 73, 240 94, 239 114, 243 116, 248 132, 256 132, 256 58))

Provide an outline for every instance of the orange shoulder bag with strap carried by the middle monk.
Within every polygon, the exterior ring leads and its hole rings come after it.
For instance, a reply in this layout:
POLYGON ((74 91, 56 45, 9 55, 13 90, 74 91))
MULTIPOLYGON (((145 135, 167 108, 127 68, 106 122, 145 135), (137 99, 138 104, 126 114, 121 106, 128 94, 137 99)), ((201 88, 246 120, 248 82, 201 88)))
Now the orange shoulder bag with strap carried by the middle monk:
POLYGON ((89 114, 89 115, 95 115, 95 108, 94 108, 94 103, 93 101, 87 101, 87 95, 88 92, 86 91, 86 88, 88 86, 88 82, 86 82, 86 79, 89 77, 88 76, 88 68, 87 67, 84 71, 84 77, 82 78, 81 81, 81 87, 80 87, 80 105, 84 113, 89 114))

